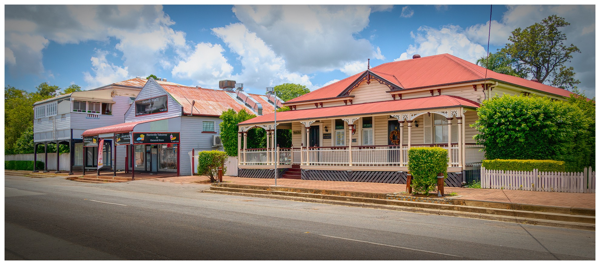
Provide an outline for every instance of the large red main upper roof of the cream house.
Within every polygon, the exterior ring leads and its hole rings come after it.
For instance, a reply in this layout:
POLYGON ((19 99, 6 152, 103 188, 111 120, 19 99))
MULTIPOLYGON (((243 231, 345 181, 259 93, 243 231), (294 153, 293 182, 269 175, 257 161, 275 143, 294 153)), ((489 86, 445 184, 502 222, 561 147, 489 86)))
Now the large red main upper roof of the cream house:
MULTIPOLYGON (((487 71, 486 77, 485 68, 447 53, 383 63, 371 68, 370 71, 403 89, 432 87, 491 78, 503 83, 515 84, 564 97, 569 97, 572 94, 572 92, 565 89, 559 89, 520 77, 513 77, 512 75, 499 74, 490 70, 487 71)), ((364 72, 314 90, 286 103, 341 96, 340 94, 362 74, 364 72)))

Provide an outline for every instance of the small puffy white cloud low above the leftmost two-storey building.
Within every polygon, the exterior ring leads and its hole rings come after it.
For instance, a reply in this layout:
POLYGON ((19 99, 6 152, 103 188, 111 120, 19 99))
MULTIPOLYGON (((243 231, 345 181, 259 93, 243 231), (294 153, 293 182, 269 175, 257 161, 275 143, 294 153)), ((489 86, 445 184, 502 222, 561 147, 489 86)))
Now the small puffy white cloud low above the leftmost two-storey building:
POLYGON ((92 57, 92 71, 94 75, 89 72, 83 72, 83 80, 88 83, 85 89, 95 89, 96 87, 106 86, 118 81, 128 79, 127 66, 120 67, 113 63, 110 63, 106 56, 109 54, 108 51, 95 50, 96 56, 92 57))

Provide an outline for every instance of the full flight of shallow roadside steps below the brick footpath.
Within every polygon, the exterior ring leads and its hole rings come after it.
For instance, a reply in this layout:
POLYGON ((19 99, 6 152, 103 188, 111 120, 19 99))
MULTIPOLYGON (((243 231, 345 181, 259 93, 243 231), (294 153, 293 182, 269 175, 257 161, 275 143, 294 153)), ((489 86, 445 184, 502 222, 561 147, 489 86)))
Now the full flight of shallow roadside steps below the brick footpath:
POLYGON ((452 199, 452 204, 386 199, 386 194, 308 188, 264 187, 227 183, 212 184, 205 193, 327 203, 424 214, 448 215, 539 226, 595 230, 595 209, 563 208, 514 203, 452 199))

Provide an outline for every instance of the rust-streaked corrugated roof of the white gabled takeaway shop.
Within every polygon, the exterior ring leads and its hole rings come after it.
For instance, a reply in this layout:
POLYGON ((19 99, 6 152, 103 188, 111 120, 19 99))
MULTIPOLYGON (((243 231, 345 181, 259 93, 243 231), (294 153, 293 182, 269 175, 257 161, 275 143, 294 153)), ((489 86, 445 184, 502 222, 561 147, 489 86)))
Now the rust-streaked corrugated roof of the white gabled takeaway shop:
MULTIPOLYGON (((248 111, 250 109, 228 95, 230 92, 224 90, 202 89, 188 86, 170 86, 164 84, 161 84, 161 87, 184 107, 185 114, 220 116, 223 114, 223 111, 227 111, 227 109, 233 109, 235 111, 240 111, 241 109, 246 109, 246 111, 248 111), (193 100, 195 102, 192 109, 191 102, 193 100)), ((233 96, 235 97, 235 94, 233 96)), ((252 97, 261 103, 263 114, 273 113, 273 106, 270 106, 264 99, 259 98, 259 95, 252 95, 252 97)), ((250 114, 253 113, 252 111, 248 112, 250 114)))

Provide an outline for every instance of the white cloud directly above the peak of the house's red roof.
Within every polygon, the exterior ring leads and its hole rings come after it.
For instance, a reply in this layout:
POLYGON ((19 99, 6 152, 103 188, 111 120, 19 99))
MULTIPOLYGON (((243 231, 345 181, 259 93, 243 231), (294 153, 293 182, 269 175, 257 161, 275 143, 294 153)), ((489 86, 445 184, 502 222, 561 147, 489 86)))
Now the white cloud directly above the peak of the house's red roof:
POLYGON ((400 54, 394 61, 412 58, 413 54, 425 57, 448 53, 475 63, 485 56, 485 48, 470 41, 460 26, 446 25, 441 29, 421 26, 417 33, 410 32, 410 35, 415 39, 415 44, 409 45, 406 53, 400 54))

